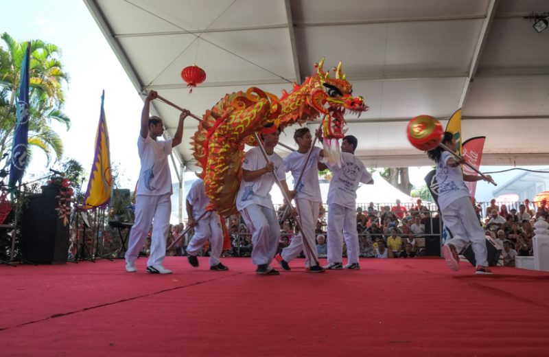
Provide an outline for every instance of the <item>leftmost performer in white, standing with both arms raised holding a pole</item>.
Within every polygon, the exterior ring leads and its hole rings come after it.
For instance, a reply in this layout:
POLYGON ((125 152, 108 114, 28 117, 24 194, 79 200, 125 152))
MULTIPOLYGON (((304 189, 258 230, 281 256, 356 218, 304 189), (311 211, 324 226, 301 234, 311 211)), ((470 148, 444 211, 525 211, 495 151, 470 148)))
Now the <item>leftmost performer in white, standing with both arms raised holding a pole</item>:
POLYGON ((135 223, 133 224, 126 251, 126 271, 135 273, 135 260, 147 239, 150 225, 152 235, 150 256, 147 271, 152 274, 171 274, 172 270, 162 265, 166 255, 166 238, 170 229, 170 214, 172 213, 172 175, 167 157, 172 148, 181 143, 183 137, 183 121, 189 111, 181 112, 174 139, 156 140, 164 132, 162 119, 149 117, 150 101, 158 94, 150 91, 145 98, 141 113, 141 133, 137 141, 137 151, 141 160, 141 171, 137 183, 135 197, 135 223))

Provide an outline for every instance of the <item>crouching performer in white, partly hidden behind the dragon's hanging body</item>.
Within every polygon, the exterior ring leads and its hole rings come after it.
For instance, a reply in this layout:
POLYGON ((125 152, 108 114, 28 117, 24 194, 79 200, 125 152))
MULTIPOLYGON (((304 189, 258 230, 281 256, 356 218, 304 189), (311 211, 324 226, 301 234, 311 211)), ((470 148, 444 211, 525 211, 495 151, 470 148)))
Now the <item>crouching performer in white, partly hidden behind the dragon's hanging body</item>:
POLYGON ((223 231, 219 215, 215 211, 209 211, 200 220, 197 220, 206 211, 210 199, 206 196, 204 181, 194 181, 187 194, 187 216, 189 226, 194 227, 194 235, 187 245, 187 258, 189 264, 198 268, 198 252, 207 240, 210 241, 210 270, 229 270, 220 262, 220 255, 223 250, 223 231))

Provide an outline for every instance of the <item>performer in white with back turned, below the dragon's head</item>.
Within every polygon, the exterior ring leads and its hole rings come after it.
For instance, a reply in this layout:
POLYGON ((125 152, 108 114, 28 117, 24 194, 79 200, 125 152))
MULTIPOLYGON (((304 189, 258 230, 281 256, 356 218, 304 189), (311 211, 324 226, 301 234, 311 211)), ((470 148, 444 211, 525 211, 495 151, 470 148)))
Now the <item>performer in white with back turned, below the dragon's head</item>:
POLYGON ((373 184, 371 174, 355 157, 358 139, 347 135, 341 143, 341 167, 320 164, 332 172, 328 189, 328 264, 326 269, 360 269, 356 229, 356 190, 359 183, 373 184), (343 239, 347 244, 347 264, 343 265, 343 239))

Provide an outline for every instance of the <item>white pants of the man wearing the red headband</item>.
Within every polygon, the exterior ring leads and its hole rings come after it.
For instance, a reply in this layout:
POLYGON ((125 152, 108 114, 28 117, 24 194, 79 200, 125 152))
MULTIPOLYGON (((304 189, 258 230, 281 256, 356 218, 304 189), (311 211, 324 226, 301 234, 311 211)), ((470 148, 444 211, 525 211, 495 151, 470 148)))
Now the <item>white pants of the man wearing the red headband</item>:
POLYGON ((253 264, 270 264, 280 240, 277 212, 274 208, 252 204, 244 207, 240 214, 252 233, 253 264))

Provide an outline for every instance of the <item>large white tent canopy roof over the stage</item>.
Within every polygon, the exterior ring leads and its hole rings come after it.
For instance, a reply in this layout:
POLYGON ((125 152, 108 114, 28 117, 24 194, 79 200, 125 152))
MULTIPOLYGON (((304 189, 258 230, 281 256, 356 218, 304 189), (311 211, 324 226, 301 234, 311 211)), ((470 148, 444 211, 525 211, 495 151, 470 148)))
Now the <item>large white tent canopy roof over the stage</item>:
MULTIPOLYGON (((445 125, 460 107, 464 139, 487 136, 483 165, 549 163, 549 30, 538 34, 525 19, 547 12, 547 0, 84 2, 135 89, 197 115, 248 87, 290 91, 325 56, 326 69, 342 60, 371 107, 346 115, 366 167, 429 165, 406 139, 408 120, 428 114, 445 125), (195 62, 207 79, 189 94, 180 71, 195 62)), ((178 111, 159 102, 152 110, 173 135, 178 111)), ((196 126, 185 122, 176 148, 190 170, 196 126)), ((292 144, 292 135, 281 140, 292 144)))

